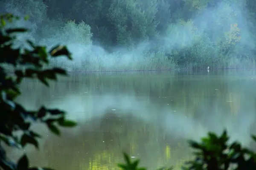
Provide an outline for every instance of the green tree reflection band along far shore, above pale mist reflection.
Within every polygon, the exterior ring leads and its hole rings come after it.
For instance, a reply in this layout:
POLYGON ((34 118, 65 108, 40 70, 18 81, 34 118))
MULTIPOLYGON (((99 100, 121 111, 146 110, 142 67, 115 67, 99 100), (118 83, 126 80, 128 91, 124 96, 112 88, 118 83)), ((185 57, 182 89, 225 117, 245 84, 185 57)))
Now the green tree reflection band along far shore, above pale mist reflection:
MULTIPOLYGON (((64 95, 70 95, 70 93, 84 94, 84 92, 88 92, 87 95, 131 94, 137 96, 138 99, 140 97, 145 100, 148 99, 154 105, 169 104, 169 107, 172 108, 184 108, 182 112, 191 115, 191 113, 201 114, 199 108, 202 105, 207 105, 208 109, 212 110, 213 108, 209 107, 214 107, 212 104, 216 101, 230 100, 230 93, 232 92, 230 86, 234 86, 234 83, 226 79, 226 76, 221 75, 207 77, 191 74, 169 75, 168 72, 163 72, 161 74, 74 74, 68 79, 61 79, 59 82, 53 83, 51 91, 42 88, 38 83, 23 85, 24 93, 29 96, 35 96, 35 91, 31 89, 40 89, 37 93, 42 94, 40 100, 47 100, 48 102, 58 100, 59 94, 62 98, 65 97, 62 95, 63 91, 67 92, 64 95)), ((233 93, 232 96, 237 95, 233 93)), ((230 103, 226 105, 224 102, 219 104, 226 108, 230 105, 230 103)))

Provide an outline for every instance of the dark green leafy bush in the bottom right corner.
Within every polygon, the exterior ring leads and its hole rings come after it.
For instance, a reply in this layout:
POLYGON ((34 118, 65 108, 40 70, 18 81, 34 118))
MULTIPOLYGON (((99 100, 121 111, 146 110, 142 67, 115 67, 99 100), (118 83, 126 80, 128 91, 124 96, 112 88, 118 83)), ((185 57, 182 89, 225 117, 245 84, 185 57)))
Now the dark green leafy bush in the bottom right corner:
MULTIPOLYGON (((217 136, 208 133, 201 143, 189 141, 196 149, 195 160, 186 163, 184 170, 256 170, 256 153, 244 148, 239 142, 228 144, 226 130, 217 136)), ((256 141, 255 136, 253 139, 256 141)))

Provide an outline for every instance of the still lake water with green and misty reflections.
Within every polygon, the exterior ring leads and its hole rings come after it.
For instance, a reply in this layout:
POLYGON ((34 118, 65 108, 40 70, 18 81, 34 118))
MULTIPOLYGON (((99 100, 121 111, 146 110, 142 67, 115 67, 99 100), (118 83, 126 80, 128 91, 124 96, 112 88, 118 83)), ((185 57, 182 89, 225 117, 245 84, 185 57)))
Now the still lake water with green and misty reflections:
MULTIPOLYGON (((18 99, 28 109, 61 108, 78 122, 61 137, 42 125, 32 165, 58 170, 114 170, 122 152, 149 170, 192 158, 187 139, 224 128, 252 146, 256 127, 256 71, 70 73, 50 88, 26 80, 18 99)), ((11 154, 15 158, 17 152, 11 154)))

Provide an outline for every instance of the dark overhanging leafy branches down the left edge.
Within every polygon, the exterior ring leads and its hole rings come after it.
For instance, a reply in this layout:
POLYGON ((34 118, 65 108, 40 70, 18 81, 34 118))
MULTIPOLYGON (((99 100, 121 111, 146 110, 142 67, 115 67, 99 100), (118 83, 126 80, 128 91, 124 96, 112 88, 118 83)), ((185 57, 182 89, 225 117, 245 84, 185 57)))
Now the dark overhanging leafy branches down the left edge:
MULTIPOLYGON (((18 20, 12 14, 0 16, 0 170, 36 170, 37 167, 29 167, 29 160, 24 155, 17 164, 8 159, 3 143, 10 147, 22 148, 26 144, 32 144, 38 148, 38 138, 30 126, 34 122, 41 122, 49 127, 52 133, 60 135, 58 125, 73 127, 75 122, 65 119, 65 112, 58 109, 48 109, 42 106, 38 111, 27 111, 22 105, 15 102, 20 95, 19 84, 24 78, 39 79, 49 86, 49 80, 57 80, 57 75, 67 75, 61 68, 44 69, 49 64, 51 57, 67 56, 71 58, 66 46, 57 45, 47 52, 46 47, 35 45, 32 41, 26 42, 30 48, 15 48, 17 33, 28 31, 25 28, 6 28, 8 22, 18 20), (15 74, 7 73, 4 65, 13 65, 15 74), (26 66, 32 67, 26 67, 26 66), (17 69, 23 66, 25 69, 17 69), (15 132, 22 132, 15 135, 15 132)), ((49 168, 43 168, 50 170, 49 168)))

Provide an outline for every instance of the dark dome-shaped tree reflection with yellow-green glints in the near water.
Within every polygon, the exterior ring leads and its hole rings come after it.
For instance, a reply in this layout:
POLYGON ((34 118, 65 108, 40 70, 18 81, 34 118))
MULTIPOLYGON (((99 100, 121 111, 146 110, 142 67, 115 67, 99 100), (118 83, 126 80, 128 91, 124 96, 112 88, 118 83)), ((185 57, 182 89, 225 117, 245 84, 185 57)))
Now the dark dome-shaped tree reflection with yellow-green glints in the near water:
POLYGON ((60 139, 50 136, 43 150, 40 156, 44 158, 38 160, 47 160, 49 166, 63 170, 114 169, 117 162, 122 162, 122 151, 143 158, 142 165, 153 169, 157 165, 173 164, 183 157, 179 155, 183 151, 177 141, 159 126, 135 119, 130 114, 117 116, 114 113, 106 113, 102 118, 81 125, 76 135, 70 130, 60 139))

